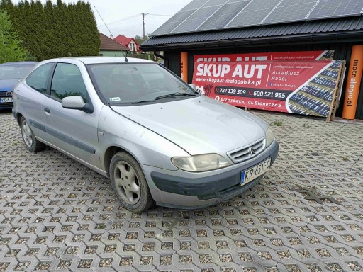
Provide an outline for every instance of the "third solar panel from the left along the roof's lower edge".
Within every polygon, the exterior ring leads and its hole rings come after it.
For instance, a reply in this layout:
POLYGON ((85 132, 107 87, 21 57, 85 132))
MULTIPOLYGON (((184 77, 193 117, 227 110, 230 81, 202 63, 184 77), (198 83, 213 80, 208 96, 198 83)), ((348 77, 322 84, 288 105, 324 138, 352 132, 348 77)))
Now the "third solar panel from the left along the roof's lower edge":
POLYGON ((208 30, 223 28, 237 13, 244 8, 249 1, 240 1, 225 4, 209 17, 197 30, 208 30))

